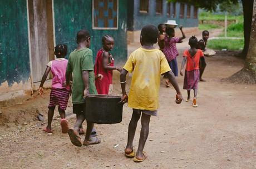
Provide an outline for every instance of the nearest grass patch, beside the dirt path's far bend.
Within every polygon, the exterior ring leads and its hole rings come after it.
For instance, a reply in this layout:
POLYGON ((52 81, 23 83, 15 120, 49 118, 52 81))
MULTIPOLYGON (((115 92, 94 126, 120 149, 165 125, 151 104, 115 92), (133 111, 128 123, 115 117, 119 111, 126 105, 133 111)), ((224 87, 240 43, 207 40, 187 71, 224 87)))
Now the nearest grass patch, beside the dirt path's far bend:
POLYGON ((230 51, 242 50, 244 39, 211 39, 207 44, 211 49, 228 49, 230 51))

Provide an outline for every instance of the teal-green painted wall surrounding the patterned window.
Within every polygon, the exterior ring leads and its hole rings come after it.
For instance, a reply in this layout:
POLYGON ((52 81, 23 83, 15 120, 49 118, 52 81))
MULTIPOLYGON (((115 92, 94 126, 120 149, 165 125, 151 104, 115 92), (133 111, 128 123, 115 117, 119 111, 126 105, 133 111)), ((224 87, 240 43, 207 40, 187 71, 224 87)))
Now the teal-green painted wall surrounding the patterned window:
POLYGON ((92 29, 92 1, 84 0, 54 0, 55 38, 56 44, 64 43, 68 46, 68 53, 76 48, 76 32, 87 29, 91 34, 91 49, 94 57, 102 47, 101 38, 110 34, 115 39, 115 47, 111 52, 117 63, 126 61, 126 22, 127 0, 119 0, 119 29, 92 29))

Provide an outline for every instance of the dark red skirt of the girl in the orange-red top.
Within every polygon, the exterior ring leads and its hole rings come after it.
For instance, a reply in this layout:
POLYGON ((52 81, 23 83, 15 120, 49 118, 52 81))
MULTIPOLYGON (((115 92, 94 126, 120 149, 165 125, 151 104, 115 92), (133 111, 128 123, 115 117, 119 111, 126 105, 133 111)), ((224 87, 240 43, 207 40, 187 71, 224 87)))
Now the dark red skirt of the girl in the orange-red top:
POLYGON ((183 89, 189 91, 191 89, 198 88, 199 77, 200 77, 199 69, 195 69, 193 71, 185 71, 183 89))

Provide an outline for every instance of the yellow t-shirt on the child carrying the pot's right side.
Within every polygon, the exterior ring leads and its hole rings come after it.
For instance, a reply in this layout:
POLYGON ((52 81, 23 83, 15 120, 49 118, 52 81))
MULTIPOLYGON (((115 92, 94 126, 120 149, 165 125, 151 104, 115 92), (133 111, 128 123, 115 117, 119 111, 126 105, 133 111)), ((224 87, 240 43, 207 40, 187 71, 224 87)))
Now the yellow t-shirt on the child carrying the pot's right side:
POLYGON ((128 106, 139 110, 157 110, 161 74, 171 71, 164 53, 159 49, 140 47, 131 53, 124 69, 133 73, 128 106))

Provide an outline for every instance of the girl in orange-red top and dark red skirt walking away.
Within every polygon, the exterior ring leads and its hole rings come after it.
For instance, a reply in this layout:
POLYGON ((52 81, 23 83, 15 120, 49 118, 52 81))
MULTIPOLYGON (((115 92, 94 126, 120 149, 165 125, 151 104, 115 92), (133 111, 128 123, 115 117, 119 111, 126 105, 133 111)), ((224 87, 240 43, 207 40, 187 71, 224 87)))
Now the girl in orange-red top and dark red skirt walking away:
POLYGON ((188 98, 186 102, 190 101, 190 90, 194 90, 194 99, 192 102, 193 107, 198 107, 196 102, 196 96, 198 94, 198 82, 199 82, 199 60, 204 57, 203 52, 200 49, 196 49, 198 39, 194 36, 189 38, 190 49, 185 50, 183 54, 183 61, 181 63, 180 75, 183 76, 183 68, 186 63, 186 71, 184 77, 183 89, 188 91, 188 98))

